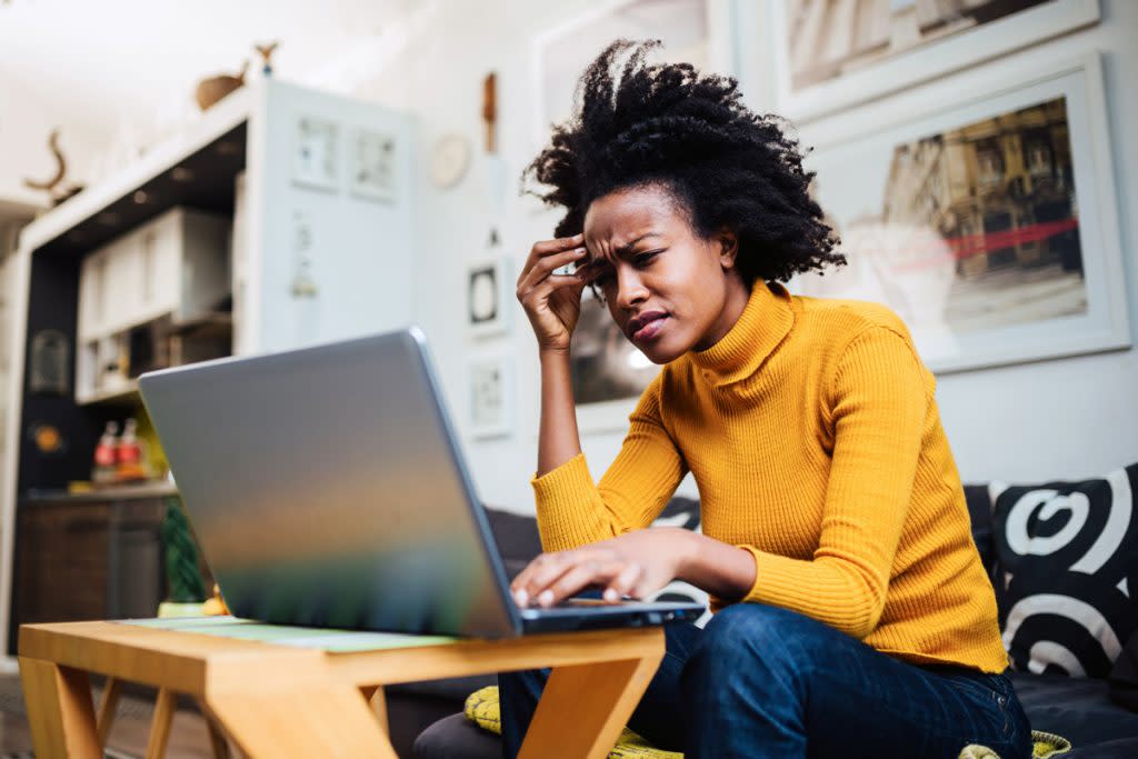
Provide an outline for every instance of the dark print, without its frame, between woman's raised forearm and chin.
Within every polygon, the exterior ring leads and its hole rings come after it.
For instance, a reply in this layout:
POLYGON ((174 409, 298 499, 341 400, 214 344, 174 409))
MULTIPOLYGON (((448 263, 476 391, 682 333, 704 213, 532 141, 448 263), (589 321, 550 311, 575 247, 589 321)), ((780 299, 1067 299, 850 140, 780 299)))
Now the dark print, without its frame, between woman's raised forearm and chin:
MULTIPOLYGON (((628 341, 604 304, 586 290, 569 355, 578 405, 637 398, 660 368, 628 341)), ((617 414, 621 416, 621 414, 617 414)), ((624 422, 624 414, 620 422, 624 422)))

